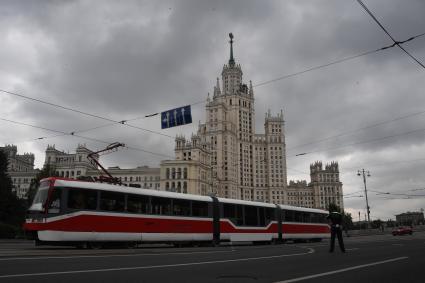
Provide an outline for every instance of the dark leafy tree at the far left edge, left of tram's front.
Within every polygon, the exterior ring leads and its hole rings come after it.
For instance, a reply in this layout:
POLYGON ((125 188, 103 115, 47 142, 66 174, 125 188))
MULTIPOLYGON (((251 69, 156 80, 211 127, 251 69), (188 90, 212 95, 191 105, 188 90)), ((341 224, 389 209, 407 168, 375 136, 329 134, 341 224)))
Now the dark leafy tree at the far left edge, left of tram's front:
POLYGON ((7 154, 0 150, 0 223, 20 226, 25 219, 25 205, 12 191, 7 165, 7 154))

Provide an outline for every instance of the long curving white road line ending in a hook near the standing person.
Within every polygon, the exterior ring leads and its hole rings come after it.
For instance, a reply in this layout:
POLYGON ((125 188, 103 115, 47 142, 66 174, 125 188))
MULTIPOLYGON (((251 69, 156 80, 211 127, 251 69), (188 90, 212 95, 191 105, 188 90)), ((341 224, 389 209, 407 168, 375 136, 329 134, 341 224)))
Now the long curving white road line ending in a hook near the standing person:
POLYGON ((126 271, 126 270, 142 270, 142 269, 154 269, 154 268, 168 268, 168 267, 180 267, 180 266, 190 266, 190 265, 205 265, 205 264, 215 264, 215 263, 227 263, 227 262, 238 262, 238 261, 251 261, 251 260, 261 260, 261 259, 283 258, 283 257, 291 257, 291 256, 308 255, 308 254, 312 254, 312 253, 314 253, 314 249, 308 248, 308 251, 307 252, 296 253, 296 254, 260 256, 260 257, 247 257, 247 258, 236 258, 236 259, 226 259, 226 260, 211 260, 211 261, 176 263, 176 264, 164 264, 164 265, 148 265, 148 266, 135 266, 135 267, 121 267, 121 268, 105 268, 105 269, 71 270, 71 271, 58 271, 58 272, 9 274, 9 275, 0 275, 0 278, 30 277, 30 276, 48 276, 48 275, 62 275, 62 274, 76 274, 76 273, 93 273, 93 272, 109 272, 109 271, 126 271))

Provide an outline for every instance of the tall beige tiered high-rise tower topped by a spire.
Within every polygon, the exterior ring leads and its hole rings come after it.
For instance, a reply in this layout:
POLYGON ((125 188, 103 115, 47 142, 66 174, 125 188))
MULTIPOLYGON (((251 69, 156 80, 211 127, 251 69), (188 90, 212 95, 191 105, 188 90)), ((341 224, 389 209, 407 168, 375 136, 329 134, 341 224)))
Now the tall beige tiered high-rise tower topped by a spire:
POLYGON ((266 113, 255 133, 254 90, 233 53, 208 94, 206 121, 191 141, 176 138, 176 160, 161 162, 161 188, 177 192, 283 203, 287 184, 283 111, 266 113), (173 173, 174 172, 174 173, 173 173), (178 173, 178 172, 187 172, 178 173))

